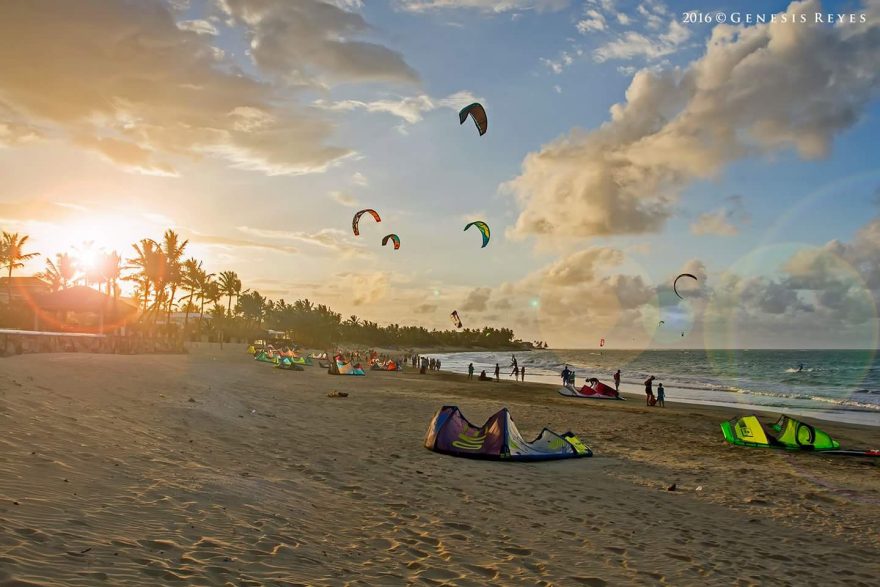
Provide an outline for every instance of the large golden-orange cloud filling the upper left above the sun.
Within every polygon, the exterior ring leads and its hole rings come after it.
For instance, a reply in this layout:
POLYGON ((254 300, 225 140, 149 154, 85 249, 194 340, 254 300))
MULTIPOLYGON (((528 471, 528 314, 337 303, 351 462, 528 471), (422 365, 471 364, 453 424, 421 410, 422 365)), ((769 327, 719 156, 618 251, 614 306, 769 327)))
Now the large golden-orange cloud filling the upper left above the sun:
MULTIPOLYGON (((311 35, 336 30, 329 20, 311 35)), ((325 145, 332 127, 317 112, 218 62, 211 35, 181 30, 162 3, 14 2, 0 38, 5 108, 125 168, 173 174, 177 157, 213 155, 297 174, 349 154, 325 145)))

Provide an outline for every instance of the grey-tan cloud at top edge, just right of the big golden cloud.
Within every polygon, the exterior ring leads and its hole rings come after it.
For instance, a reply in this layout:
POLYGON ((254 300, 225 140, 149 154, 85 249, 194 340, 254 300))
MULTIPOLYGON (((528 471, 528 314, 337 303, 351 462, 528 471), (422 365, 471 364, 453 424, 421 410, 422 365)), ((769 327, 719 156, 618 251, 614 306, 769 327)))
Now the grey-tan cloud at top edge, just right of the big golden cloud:
POLYGON ((370 26, 356 12, 320 0, 221 0, 221 6, 247 27, 257 67, 288 82, 418 81, 400 53, 358 39, 370 26))

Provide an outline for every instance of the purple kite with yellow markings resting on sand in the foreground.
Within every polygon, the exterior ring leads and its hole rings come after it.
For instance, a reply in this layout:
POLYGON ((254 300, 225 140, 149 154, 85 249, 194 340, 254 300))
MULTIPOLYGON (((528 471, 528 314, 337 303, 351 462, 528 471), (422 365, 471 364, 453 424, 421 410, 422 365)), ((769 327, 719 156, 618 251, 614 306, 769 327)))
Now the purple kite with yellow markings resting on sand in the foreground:
POLYGON ((544 428, 531 442, 520 434, 507 408, 482 426, 467 421, 457 406, 440 408, 425 435, 425 448, 456 457, 506 461, 549 461, 591 457, 593 451, 571 432, 556 434, 544 428))

